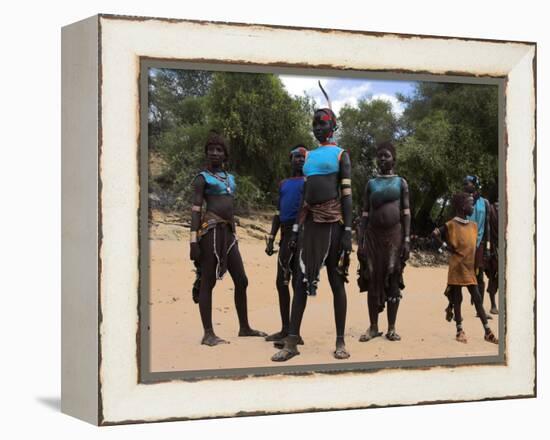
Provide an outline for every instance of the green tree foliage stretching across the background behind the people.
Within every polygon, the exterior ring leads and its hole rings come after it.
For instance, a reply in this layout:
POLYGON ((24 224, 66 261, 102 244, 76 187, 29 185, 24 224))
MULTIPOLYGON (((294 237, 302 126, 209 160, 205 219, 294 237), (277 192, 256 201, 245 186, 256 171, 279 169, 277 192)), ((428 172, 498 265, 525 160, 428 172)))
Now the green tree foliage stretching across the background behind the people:
MULTIPOLYGON (((289 173, 290 148, 315 145, 314 101, 290 96, 276 75, 154 69, 149 80, 149 151, 163 163, 161 171, 150 171, 149 189, 166 209, 189 204, 211 129, 229 141, 241 210, 273 206, 277 183, 289 173)), ((397 172, 409 183, 415 233, 441 221, 445 201, 465 175, 480 176, 485 195, 494 193, 497 93, 490 85, 419 82, 412 95, 398 96, 402 115, 377 99, 345 106, 337 140, 350 152, 356 210, 376 172, 376 144, 387 140, 395 143, 397 172)))

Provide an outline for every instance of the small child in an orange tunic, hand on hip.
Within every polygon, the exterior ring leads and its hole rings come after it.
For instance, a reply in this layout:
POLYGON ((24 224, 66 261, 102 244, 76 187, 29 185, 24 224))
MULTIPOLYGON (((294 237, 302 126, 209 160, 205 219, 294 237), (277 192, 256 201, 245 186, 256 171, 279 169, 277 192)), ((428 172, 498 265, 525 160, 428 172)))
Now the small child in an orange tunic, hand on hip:
POLYGON ((442 227, 434 229, 432 235, 445 241, 451 251, 446 294, 454 309, 456 340, 462 343, 468 342, 462 328, 461 312, 462 286, 466 286, 485 329, 485 340, 498 344, 498 339, 489 327, 487 315, 481 303, 481 295, 477 288, 475 273, 477 225, 467 219, 473 212, 473 203, 474 200, 470 194, 466 192, 455 194, 453 196, 453 207, 456 217, 449 220, 442 227))

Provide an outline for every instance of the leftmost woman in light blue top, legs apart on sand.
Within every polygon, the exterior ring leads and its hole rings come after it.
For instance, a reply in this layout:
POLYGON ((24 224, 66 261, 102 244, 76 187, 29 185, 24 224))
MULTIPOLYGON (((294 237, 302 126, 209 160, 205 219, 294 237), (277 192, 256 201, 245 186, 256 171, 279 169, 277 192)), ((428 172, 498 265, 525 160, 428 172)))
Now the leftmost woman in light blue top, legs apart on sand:
POLYGON ((198 298, 204 328, 202 344, 214 346, 228 341, 219 338, 212 326, 212 290, 216 280, 228 270, 235 284, 235 308, 239 318, 239 336, 265 336, 248 323, 246 288, 248 279, 244 271, 239 245, 235 235, 233 205, 235 179, 223 169, 228 158, 225 139, 211 133, 205 145, 207 167, 193 182, 191 208, 191 260, 200 274, 198 298), (203 202, 206 210, 202 213, 203 202))

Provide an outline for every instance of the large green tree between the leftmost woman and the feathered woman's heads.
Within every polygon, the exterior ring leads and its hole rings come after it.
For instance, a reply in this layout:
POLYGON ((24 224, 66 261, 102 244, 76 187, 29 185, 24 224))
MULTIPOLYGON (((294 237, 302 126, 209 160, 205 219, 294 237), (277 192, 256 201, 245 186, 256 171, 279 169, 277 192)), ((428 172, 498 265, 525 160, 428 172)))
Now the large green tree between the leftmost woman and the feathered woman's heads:
POLYGON ((211 126, 231 145, 231 169, 272 195, 290 148, 312 143, 310 102, 289 96, 275 75, 250 73, 215 73, 208 101, 211 126))

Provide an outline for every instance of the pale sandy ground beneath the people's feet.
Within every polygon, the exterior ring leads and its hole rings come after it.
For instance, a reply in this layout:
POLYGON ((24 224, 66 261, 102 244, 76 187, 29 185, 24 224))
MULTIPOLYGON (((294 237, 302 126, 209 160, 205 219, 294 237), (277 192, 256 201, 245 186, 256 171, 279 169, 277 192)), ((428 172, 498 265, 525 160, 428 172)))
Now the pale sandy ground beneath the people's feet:
MULTIPOLYGON (((265 227, 265 225, 264 225, 265 227)), ((275 353, 263 338, 239 338, 233 303, 233 284, 229 274, 214 290, 213 322, 216 333, 230 344, 207 347, 200 344, 202 326, 198 305, 191 299, 194 280, 189 260, 188 229, 182 225, 153 222, 150 240, 150 362, 152 372, 217 368, 272 367, 275 353)), ((257 228, 238 228, 239 247, 249 278, 248 310, 252 327, 268 333, 280 329, 275 289, 276 255, 264 253, 265 244, 257 228)), ((352 258, 350 274, 357 261, 352 258)), ((323 270, 316 297, 310 297, 304 314, 302 336, 305 345, 283 365, 372 362, 381 360, 428 359, 498 354, 498 346, 483 340, 483 329, 464 289, 463 317, 468 343, 454 340, 454 323, 444 319, 446 300, 442 294, 446 267, 411 267, 405 270, 406 289, 399 310, 397 331, 400 342, 376 338, 367 343, 359 336, 368 327, 367 297, 360 293, 355 276, 346 285, 348 314, 346 344, 351 357, 339 361, 332 357, 335 325, 326 271, 323 270)), ((485 298, 485 308, 489 300, 485 298)), ((381 330, 386 330, 385 313, 380 315, 381 330)), ((491 327, 498 333, 498 317, 491 327)), ((498 334, 497 334, 498 336, 498 334)))

